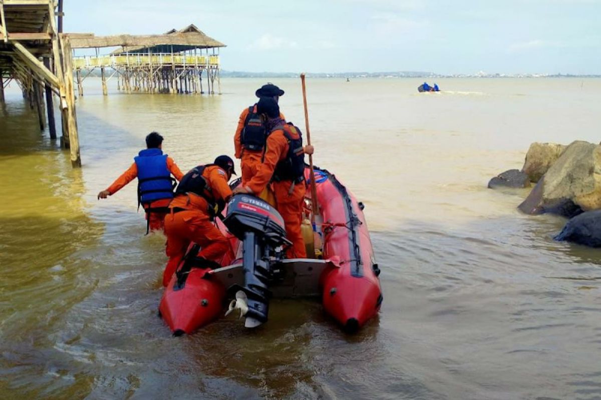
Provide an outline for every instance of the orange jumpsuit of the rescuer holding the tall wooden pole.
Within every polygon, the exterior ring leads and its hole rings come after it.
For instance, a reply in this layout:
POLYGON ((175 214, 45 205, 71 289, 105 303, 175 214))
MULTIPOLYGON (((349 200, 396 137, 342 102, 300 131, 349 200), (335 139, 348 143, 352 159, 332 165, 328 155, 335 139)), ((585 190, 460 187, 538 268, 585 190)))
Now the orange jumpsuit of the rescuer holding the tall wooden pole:
MULTIPOLYGON (((288 140, 281 129, 273 131, 267 137, 267 150, 263 163, 258 167, 257 173, 248 182, 252 193, 260 194, 269 184, 276 164, 285 160, 288 155, 288 140)), ((305 258, 307 251, 305 241, 302 238, 301 222, 303 203, 305 201, 305 182, 295 184, 290 192, 292 181, 273 182, 273 191, 275 192, 276 209, 284 218, 286 236, 293 244, 288 248, 286 254, 288 258, 305 258)))

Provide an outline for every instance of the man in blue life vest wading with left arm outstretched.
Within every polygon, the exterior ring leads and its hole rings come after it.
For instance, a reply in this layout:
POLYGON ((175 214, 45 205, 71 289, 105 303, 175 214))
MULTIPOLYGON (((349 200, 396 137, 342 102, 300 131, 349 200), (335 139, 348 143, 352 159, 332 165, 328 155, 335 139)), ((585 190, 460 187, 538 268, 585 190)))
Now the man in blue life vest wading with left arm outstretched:
POLYGON ((138 178, 138 205, 142 204, 146 212, 148 234, 149 230, 163 229, 163 219, 168 211, 169 201, 173 199, 175 186, 171 175, 180 181, 183 173, 171 157, 163 154, 163 137, 160 134, 156 132, 148 134, 146 147, 147 149, 133 158, 134 162, 126 172, 98 194, 98 199, 112 196, 133 179, 138 178))

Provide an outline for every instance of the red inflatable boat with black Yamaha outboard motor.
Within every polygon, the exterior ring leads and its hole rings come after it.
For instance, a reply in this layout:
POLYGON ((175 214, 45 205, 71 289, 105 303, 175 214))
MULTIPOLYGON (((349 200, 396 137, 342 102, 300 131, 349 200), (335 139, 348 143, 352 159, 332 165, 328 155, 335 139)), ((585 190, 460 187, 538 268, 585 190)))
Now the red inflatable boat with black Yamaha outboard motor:
MULTIPOLYGON (((165 288, 159 314, 174 335, 215 320, 234 297, 230 311, 245 316, 247 327, 267 321, 270 297, 320 296, 325 311, 349 332, 377 314, 380 270, 363 205, 334 175, 317 167, 314 172, 320 215, 313 224, 314 245, 307 246, 313 257, 285 259, 283 248, 290 242, 275 208, 254 196, 234 196, 224 221, 216 222, 231 243, 221 267, 200 263, 198 246, 191 246, 165 288)), ((308 168, 305 177, 308 182, 308 168)), ((310 204, 310 190, 307 196, 310 204)))

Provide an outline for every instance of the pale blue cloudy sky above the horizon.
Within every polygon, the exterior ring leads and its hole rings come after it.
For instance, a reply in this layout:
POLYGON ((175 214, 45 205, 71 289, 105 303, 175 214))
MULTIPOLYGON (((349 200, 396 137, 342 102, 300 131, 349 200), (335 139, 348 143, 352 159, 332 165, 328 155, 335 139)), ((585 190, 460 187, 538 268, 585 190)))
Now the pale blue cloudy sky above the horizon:
POLYGON ((228 71, 601 74, 601 0, 64 0, 64 30, 194 23, 228 71))

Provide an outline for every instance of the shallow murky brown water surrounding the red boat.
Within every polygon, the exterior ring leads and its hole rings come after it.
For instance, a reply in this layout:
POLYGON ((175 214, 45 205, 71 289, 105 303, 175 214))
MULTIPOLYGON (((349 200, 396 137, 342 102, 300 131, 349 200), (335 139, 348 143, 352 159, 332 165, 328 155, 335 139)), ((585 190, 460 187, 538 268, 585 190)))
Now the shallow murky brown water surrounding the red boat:
MULTIPOLYGON (((2 398, 601 399, 601 253, 492 191, 531 142, 599 142, 599 79, 308 79, 315 163, 366 204, 384 302, 345 335, 314 300, 270 321, 172 338, 156 317, 164 237, 135 184, 96 194, 156 130, 182 170, 233 154, 263 80, 223 95, 78 100, 83 167, 40 133, 14 84, 0 109, 2 398)), ((300 82, 278 79, 304 128, 300 82)), ((60 129, 58 129, 60 131, 60 129)))

